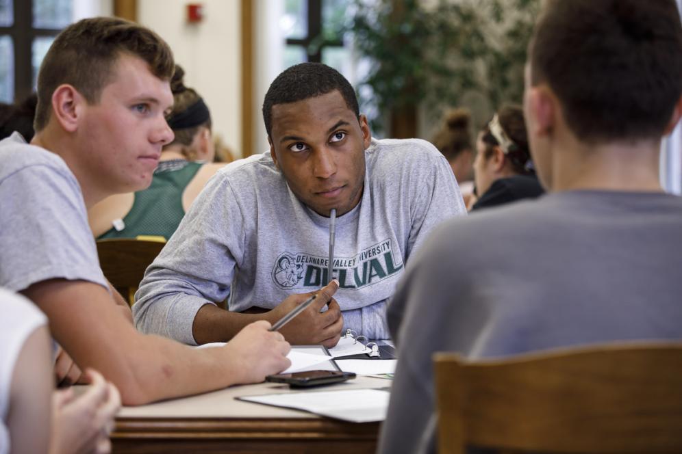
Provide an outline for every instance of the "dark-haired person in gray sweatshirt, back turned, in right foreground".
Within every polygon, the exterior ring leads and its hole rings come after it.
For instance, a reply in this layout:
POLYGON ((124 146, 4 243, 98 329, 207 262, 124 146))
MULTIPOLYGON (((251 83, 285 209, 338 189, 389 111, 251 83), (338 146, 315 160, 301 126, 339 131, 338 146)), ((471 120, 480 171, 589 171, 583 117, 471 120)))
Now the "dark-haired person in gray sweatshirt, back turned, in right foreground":
POLYGON ((675 2, 546 1, 523 105, 548 194, 444 222, 409 263, 381 454, 435 451, 435 351, 682 340, 682 198, 659 180, 682 117, 675 2))

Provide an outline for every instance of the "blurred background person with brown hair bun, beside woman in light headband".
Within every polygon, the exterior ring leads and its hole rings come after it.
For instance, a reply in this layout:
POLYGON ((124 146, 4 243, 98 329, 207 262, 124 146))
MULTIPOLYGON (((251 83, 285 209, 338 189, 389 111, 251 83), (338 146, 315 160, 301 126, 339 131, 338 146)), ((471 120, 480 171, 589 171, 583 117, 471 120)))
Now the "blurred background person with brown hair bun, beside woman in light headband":
POLYGON ((474 150, 469 135, 470 122, 468 109, 452 109, 445 114, 442 128, 433 137, 433 145, 450 163, 467 205, 474 191, 474 182, 471 180, 474 150))

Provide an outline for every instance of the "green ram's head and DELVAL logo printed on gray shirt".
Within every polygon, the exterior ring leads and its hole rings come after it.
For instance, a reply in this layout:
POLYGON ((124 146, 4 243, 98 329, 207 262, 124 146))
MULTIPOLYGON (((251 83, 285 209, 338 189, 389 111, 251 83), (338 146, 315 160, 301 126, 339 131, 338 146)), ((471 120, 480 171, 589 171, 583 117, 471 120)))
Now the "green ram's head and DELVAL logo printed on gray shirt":
MULTIPOLYGON (((281 289, 315 289, 329 282, 327 257, 305 252, 284 252, 273 267, 273 280, 281 289)), ((335 257, 332 278, 341 289, 362 289, 396 276, 403 269, 401 254, 390 239, 361 250, 352 257, 335 257)))

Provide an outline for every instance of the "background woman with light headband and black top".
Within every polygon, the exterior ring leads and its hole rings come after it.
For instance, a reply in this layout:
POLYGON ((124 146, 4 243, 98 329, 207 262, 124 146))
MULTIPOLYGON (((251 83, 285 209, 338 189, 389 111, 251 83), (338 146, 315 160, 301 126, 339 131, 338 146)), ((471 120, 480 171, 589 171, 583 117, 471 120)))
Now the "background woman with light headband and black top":
POLYGON ((505 106, 479 133, 474 161, 478 199, 470 211, 544 193, 533 170, 521 107, 505 106))

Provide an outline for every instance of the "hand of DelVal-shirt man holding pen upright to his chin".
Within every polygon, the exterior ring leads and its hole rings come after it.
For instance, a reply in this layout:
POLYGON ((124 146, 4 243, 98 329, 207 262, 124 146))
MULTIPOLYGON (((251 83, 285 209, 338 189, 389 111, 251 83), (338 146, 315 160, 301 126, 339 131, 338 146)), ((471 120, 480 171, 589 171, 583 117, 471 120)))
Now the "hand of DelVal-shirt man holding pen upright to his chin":
POLYGON ((317 294, 315 301, 301 314, 294 317, 292 321, 284 325, 280 332, 292 345, 321 344, 331 348, 338 343, 343 329, 341 308, 336 299, 332 297, 338 288, 339 282, 334 279, 319 291, 290 295, 279 306, 270 310, 266 317, 270 323, 275 323, 306 299, 317 294), (320 312, 325 304, 329 304, 329 308, 325 312, 320 312))

